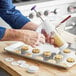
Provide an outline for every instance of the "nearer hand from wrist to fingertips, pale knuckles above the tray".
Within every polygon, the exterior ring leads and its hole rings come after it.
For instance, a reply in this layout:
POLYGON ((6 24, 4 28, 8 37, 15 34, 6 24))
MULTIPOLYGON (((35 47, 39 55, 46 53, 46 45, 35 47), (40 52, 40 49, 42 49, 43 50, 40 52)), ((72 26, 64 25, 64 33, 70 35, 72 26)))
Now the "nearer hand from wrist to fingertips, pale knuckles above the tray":
POLYGON ((37 46, 39 43, 45 43, 45 36, 30 30, 21 30, 17 40, 23 41, 31 46, 37 46))

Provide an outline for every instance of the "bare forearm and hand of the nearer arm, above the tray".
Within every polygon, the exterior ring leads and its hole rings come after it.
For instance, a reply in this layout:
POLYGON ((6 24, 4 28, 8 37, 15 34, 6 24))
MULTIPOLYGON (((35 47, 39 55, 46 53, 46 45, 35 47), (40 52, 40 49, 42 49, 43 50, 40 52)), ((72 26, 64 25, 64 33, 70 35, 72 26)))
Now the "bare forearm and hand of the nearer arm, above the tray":
POLYGON ((39 43, 45 43, 45 36, 30 30, 6 29, 1 41, 22 41, 34 47, 39 43))

